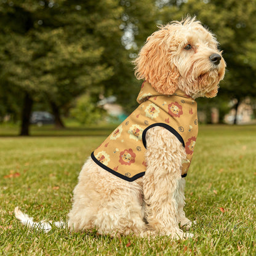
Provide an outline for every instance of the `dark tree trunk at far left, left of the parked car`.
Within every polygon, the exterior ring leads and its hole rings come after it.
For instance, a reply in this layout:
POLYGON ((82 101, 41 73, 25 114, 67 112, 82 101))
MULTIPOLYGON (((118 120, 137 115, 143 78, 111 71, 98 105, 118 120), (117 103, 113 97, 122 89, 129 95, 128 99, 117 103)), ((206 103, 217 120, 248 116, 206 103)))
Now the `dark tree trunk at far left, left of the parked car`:
POLYGON ((23 109, 22 109, 22 126, 20 127, 20 135, 30 135, 30 116, 32 112, 33 99, 28 92, 25 93, 23 109))

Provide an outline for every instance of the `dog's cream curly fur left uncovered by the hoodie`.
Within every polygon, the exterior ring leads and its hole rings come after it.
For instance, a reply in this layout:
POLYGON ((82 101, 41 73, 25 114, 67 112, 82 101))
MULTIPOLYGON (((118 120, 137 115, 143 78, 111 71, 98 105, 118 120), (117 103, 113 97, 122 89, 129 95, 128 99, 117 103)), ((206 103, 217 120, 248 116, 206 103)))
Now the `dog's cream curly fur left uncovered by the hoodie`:
MULTIPOLYGON (((214 35, 195 18, 172 22, 148 37, 134 62, 135 74, 162 94, 180 89, 193 98, 214 97, 226 66, 223 58, 219 63, 210 60, 212 54, 221 57, 217 46, 214 35)), ((71 230, 97 228, 98 233, 112 236, 192 236, 179 227, 192 224, 183 211, 185 148, 163 127, 148 130, 146 141, 146 172, 134 182, 110 174, 91 158, 86 161, 68 214, 71 230)), ((25 221, 25 215, 17 216, 25 221)))

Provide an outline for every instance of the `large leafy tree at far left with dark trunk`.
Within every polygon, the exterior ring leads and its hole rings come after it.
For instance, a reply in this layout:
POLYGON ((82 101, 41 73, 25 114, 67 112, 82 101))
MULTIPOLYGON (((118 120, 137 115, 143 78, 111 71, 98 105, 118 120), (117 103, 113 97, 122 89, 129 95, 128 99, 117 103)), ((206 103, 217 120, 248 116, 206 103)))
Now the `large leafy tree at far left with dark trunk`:
MULTIPOLYGON (((113 75, 113 67, 100 61, 105 50, 100 32, 95 29, 92 33, 89 25, 100 26, 98 20, 102 19, 102 26, 108 22, 113 25, 108 33, 116 31, 115 23, 120 23, 118 6, 115 0, 97 5, 94 1, 65 0, 58 4, 1 2, 1 87, 8 84, 22 91, 21 135, 28 135, 28 116, 35 98, 47 98, 56 116, 86 89, 101 91, 101 82, 113 75)), ((106 27, 102 33, 103 29, 106 27)))

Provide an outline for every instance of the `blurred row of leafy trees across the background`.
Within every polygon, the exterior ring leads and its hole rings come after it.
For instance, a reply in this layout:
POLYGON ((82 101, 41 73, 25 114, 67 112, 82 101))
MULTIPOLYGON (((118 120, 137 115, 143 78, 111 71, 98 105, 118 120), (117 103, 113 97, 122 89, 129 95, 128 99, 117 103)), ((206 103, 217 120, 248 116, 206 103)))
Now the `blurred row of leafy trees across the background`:
POLYGON ((230 100, 238 108, 255 99, 254 0, 1 0, 0 118, 28 135, 33 110, 50 111, 57 127, 71 109, 97 108, 99 97, 116 95, 131 111, 142 82, 132 60, 156 25, 187 14, 214 31, 227 63, 218 97, 200 99, 201 110, 217 106, 223 116, 230 100))

